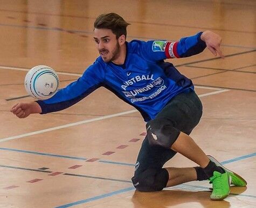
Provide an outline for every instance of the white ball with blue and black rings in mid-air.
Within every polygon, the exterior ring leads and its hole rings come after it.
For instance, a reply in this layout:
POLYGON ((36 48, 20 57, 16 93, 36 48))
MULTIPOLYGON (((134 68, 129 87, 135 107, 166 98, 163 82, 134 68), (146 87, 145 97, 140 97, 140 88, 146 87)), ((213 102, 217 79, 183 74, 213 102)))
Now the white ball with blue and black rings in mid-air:
POLYGON ((49 66, 34 66, 27 72, 24 85, 26 92, 33 98, 46 100, 58 91, 58 74, 49 66))

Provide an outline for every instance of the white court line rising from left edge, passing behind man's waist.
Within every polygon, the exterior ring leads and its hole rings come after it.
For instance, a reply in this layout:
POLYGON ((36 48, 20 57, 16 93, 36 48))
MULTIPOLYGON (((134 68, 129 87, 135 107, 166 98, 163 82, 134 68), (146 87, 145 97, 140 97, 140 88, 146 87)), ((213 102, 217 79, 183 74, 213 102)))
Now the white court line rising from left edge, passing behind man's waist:
MULTIPOLYGON (((227 92, 227 91, 230 91, 230 89, 223 89, 223 90, 215 91, 215 92, 211 92, 211 93, 200 94, 200 95, 198 95, 198 97, 202 98, 202 97, 205 97, 205 96, 209 96, 209 95, 213 95, 213 94, 218 94, 218 93, 223 93, 223 92, 227 92)), ((57 130, 57 129, 63 129, 63 128, 67 128, 67 127, 77 126, 77 125, 80 125, 80 124, 89 123, 89 122, 93 122, 93 121, 109 119, 110 117, 116 117, 116 116, 130 114, 130 113, 135 113, 135 112, 137 112, 137 110, 129 110, 129 111, 122 112, 122 113, 116 113, 116 114, 112 114, 112 115, 105 115, 105 116, 97 117, 95 119, 89 119, 89 120, 79 121, 79 122, 70 123, 70 124, 65 124, 63 126, 53 127, 53 128, 49 128, 49 129, 33 131, 33 132, 30 132, 30 133, 27 133, 27 134, 20 134, 20 135, 17 135, 17 136, 1 138, 0 142, 5 142, 5 141, 8 141, 8 140, 14 140, 16 138, 22 138, 22 137, 25 137, 25 136, 31 136, 31 135, 35 135, 35 134, 40 134, 40 133, 44 133, 44 132, 47 132, 47 131, 53 131, 53 130, 57 130)))

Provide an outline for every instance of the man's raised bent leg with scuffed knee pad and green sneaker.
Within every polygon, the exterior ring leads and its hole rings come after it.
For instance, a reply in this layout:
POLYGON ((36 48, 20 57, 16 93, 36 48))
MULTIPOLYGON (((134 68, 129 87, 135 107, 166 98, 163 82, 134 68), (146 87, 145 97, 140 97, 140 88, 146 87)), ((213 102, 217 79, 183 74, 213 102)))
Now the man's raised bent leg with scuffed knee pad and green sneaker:
MULTIPOLYGON (((227 172, 211 162, 202 149, 186 134, 189 129, 195 128, 202 115, 202 105, 194 92, 182 93, 172 99, 154 120, 147 123, 147 133, 151 145, 160 145, 163 148, 177 151, 200 165, 198 172, 205 172, 213 183, 211 199, 220 200, 229 195, 229 175, 227 172)), ((192 169, 191 169, 192 171, 192 169)), ((175 175, 174 169, 169 169, 170 178, 175 175)), ((192 173, 192 172, 191 172, 192 173)), ((191 178, 177 179, 182 181, 195 179, 195 172, 191 178)), ((202 178, 201 178, 202 179, 202 178)), ((169 182, 171 185, 172 183, 169 182)))

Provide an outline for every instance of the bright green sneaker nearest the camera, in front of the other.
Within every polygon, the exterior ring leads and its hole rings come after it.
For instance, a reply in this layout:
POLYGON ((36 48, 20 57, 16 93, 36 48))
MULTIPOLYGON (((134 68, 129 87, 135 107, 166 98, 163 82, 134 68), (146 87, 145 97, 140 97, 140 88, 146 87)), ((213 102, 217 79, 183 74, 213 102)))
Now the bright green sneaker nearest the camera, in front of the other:
POLYGON ((210 183, 212 183, 212 200, 222 200, 230 194, 230 176, 227 172, 220 174, 220 172, 214 171, 213 176, 210 177, 210 183))

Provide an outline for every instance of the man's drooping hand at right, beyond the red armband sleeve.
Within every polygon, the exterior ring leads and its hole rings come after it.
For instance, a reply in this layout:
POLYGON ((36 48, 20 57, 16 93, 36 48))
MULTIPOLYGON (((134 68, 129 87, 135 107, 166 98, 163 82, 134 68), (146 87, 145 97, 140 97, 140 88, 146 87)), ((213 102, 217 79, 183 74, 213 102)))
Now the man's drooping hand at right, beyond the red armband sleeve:
POLYGON ((222 54, 222 50, 220 50, 220 44, 222 43, 222 38, 209 30, 204 31, 200 37, 203 41, 205 41, 207 48, 212 52, 214 56, 219 54, 220 57, 224 59, 222 54))

